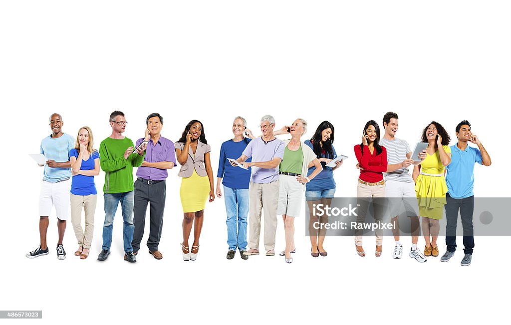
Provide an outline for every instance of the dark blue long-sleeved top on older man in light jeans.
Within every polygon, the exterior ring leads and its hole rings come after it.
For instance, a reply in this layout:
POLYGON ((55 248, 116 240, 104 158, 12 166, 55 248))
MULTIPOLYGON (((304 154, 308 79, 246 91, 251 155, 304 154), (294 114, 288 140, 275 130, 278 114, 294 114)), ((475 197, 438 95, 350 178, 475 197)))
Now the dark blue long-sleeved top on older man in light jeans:
MULTIPOLYGON (((234 167, 229 163, 227 158, 238 159, 247 147, 250 139, 245 138, 239 142, 232 139, 222 143, 220 147, 220 159, 218 161, 217 177, 223 178, 222 184, 233 189, 248 189, 250 182, 250 168, 248 170, 234 167)), ((251 158, 246 160, 252 161, 251 158)))

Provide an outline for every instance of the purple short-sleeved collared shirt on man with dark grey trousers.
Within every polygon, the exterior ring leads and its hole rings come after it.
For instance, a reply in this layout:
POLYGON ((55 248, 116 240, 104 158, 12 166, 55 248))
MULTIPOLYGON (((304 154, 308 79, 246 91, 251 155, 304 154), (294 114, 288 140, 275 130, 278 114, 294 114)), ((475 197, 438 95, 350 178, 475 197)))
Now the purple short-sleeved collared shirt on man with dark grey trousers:
MULTIPOLYGON (((136 140, 135 148, 144 141, 144 138, 136 140)), ((167 138, 160 136, 158 142, 154 144, 153 140, 149 140, 146 148, 146 156, 144 161, 147 162, 161 162, 171 161, 176 165, 176 154, 174 142, 167 138)), ((136 170, 136 177, 143 178, 151 181, 163 181, 167 178, 167 169, 160 169, 155 167, 140 166, 136 170)))

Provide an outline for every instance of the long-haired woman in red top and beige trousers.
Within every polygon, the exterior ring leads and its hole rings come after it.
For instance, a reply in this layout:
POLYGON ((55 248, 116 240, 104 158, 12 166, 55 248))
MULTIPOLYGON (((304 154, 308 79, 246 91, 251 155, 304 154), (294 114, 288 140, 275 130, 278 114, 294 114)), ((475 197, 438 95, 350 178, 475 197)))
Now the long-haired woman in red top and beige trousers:
MULTIPOLYGON (((358 179, 357 197, 385 197, 385 182, 383 181, 383 172, 387 171, 387 151, 384 146, 380 145, 380 127, 374 120, 365 123, 364 133, 362 135, 362 143, 354 147, 355 156, 357 157, 357 168, 360 168, 360 178, 358 179)), ((359 213, 357 223, 363 223, 369 202, 371 200, 359 200, 359 213)), ((375 220, 379 223, 383 219, 384 202, 377 202, 373 205, 375 220), (381 204, 380 204, 381 203, 381 204)), ((361 257, 365 256, 362 248, 363 230, 355 231, 355 246, 357 254, 361 257)), ((382 231, 376 231, 376 257, 382 254, 382 231)))

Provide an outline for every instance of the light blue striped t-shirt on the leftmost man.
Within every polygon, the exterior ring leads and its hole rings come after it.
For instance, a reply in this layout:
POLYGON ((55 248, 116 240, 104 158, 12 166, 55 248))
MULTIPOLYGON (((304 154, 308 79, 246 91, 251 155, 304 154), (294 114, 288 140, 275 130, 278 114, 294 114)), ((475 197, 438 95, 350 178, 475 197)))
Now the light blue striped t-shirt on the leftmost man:
MULTIPOLYGON (((67 133, 63 133, 58 138, 47 136, 42 139, 39 152, 49 160, 66 162, 69 161, 69 150, 74 146, 75 138, 67 133)), ((54 183, 68 178, 71 178, 71 168, 52 168, 48 164, 44 165, 43 179, 45 181, 54 183)))

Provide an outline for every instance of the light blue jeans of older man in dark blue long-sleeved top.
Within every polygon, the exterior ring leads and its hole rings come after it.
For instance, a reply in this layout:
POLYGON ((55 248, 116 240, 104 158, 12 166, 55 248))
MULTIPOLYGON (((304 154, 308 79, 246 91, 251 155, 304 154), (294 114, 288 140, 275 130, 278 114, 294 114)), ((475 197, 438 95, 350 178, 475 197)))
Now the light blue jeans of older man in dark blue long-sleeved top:
POLYGON ((225 211, 227 212, 227 244, 229 249, 247 249, 248 189, 224 186, 225 211))

